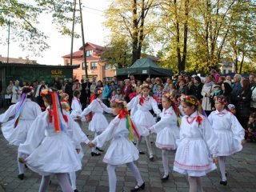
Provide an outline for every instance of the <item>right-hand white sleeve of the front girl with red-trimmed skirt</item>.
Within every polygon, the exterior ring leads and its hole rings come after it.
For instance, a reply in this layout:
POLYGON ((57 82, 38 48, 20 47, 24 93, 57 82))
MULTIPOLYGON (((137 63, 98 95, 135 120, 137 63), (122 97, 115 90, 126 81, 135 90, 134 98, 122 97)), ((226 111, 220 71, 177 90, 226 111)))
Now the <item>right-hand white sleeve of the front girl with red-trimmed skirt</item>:
POLYGON ((204 116, 201 116, 202 120, 202 138, 206 142, 210 150, 210 154, 215 157, 215 154, 218 152, 218 137, 214 134, 214 129, 210 126, 210 122, 204 116))

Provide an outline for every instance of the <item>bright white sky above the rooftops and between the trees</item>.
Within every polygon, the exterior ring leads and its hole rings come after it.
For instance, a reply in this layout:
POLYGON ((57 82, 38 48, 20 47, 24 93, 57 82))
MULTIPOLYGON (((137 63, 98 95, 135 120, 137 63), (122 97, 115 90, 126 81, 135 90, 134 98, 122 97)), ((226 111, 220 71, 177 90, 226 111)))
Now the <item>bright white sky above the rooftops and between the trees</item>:
MULTIPOLYGON (((111 0, 82 0, 82 5, 85 6, 82 12, 85 42, 92 42, 99 46, 105 45, 104 42, 106 42, 110 31, 102 25, 102 22, 105 21, 102 11, 107 9, 110 2, 111 0)), ((31 55, 30 59, 37 60, 39 64, 64 65, 62 56, 70 54, 71 38, 58 33, 58 30, 56 30, 51 23, 50 15, 42 15, 42 17, 39 18, 39 22, 40 25, 38 28, 49 36, 46 42, 48 42, 50 48, 42 52, 42 57, 34 57, 31 55)), ((81 26, 75 26, 74 30, 80 34, 81 26)), ((73 51, 77 51, 81 46, 82 38, 74 38, 73 51)), ((7 46, 1 45, 0 54, 2 54, 2 57, 7 57, 7 46)), ((28 54, 22 51, 18 43, 10 42, 9 55, 10 58, 26 58, 28 54)))

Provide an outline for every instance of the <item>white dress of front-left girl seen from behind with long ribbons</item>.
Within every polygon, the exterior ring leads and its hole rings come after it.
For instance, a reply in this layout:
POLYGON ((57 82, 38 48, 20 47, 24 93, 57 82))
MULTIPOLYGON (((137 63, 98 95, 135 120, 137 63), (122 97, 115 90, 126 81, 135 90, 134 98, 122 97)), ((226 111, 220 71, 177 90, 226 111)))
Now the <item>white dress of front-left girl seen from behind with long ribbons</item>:
MULTIPOLYGON (((61 114, 60 109, 58 112, 61 114)), ((81 170, 81 160, 74 145, 78 146, 83 138, 78 124, 69 114, 66 115, 68 122, 60 115, 63 130, 59 133, 54 130, 54 119, 49 122, 47 111, 34 120, 26 142, 18 147, 18 152, 24 157, 28 155, 26 165, 30 170, 42 175, 81 170)))

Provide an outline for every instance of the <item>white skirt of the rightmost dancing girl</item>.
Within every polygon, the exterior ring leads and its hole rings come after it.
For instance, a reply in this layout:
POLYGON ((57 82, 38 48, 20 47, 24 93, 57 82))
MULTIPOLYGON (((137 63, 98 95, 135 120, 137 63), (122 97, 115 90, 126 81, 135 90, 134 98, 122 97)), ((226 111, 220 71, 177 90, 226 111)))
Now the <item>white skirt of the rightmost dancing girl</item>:
POLYGON ((217 156, 229 156, 242 150, 242 144, 239 139, 234 138, 229 130, 214 130, 218 137, 218 153, 217 156))

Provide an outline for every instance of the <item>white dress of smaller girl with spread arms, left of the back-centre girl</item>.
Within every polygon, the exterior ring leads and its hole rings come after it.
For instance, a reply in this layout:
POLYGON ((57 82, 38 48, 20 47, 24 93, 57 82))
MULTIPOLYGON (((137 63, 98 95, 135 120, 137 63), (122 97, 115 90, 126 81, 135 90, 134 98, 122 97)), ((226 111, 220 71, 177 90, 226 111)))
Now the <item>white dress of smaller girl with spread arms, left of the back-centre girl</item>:
POLYGON ((103 115, 103 111, 106 113, 112 114, 112 109, 107 107, 99 98, 94 99, 93 102, 90 103, 89 106, 86 107, 82 111, 81 117, 84 120, 85 115, 93 112, 93 118, 89 123, 89 130, 93 132, 102 132, 106 130, 106 127, 109 125, 105 116, 103 115))

